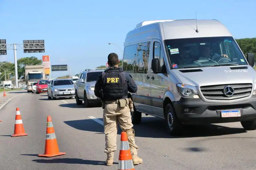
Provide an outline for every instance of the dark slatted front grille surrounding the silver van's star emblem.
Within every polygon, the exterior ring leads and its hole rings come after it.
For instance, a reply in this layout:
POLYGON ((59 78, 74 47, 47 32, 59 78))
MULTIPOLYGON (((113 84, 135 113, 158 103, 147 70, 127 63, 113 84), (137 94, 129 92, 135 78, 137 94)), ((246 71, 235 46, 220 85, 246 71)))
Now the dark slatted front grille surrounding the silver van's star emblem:
POLYGON ((225 84, 214 86, 202 86, 201 92, 205 99, 209 100, 234 100, 250 96, 252 92, 252 84, 225 84), (234 94, 231 97, 227 97, 224 94, 224 87, 230 86, 234 88, 234 94))

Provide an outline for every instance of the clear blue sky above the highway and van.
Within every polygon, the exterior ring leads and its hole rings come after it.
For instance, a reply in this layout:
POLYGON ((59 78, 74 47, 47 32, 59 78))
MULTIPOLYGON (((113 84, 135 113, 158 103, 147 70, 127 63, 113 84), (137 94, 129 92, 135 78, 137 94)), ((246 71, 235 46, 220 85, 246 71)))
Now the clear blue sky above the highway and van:
MULTIPOLYGON (((256 37, 255 6, 255 0, 0 0, 0 39, 43 39, 45 53, 17 50, 17 58, 50 55, 52 65, 68 64, 75 75, 105 65, 110 52, 122 58, 127 32, 145 20, 195 19, 196 11, 197 19, 217 19, 237 39, 256 37)), ((6 60, 14 62, 12 50, 1 56, 6 60)), ((67 74, 53 72, 53 78, 67 74)))

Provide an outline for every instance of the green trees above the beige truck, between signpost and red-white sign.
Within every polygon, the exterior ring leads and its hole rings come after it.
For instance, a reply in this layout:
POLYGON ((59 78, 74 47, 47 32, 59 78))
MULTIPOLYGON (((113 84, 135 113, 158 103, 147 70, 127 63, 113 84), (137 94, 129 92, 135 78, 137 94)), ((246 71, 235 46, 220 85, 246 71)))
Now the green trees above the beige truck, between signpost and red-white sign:
POLYGON ((42 60, 37 57, 24 57, 17 60, 18 64, 18 77, 25 76, 25 66, 27 65, 41 65, 42 60))

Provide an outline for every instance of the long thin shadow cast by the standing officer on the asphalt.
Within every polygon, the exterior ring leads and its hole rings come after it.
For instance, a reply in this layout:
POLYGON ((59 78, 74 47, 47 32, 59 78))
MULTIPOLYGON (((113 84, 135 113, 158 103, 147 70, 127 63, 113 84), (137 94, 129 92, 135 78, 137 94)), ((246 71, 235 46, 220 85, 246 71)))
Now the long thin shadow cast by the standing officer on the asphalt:
MULTIPOLYGON (((45 164, 64 163, 64 164, 84 164, 84 165, 105 165, 104 161, 83 160, 78 158, 55 158, 52 160, 40 159, 40 160, 32 160, 32 161, 37 163, 45 163, 45 164)), ((118 163, 114 162, 113 164, 118 164, 118 163)))

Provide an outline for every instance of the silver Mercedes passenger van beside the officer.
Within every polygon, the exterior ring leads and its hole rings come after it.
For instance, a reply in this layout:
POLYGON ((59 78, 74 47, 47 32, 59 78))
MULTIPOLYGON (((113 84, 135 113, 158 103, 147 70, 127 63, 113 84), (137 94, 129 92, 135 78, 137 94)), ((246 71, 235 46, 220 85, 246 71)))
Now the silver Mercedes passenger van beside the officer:
POLYGON ((126 36, 122 65, 138 85, 129 94, 132 122, 157 116, 171 135, 186 124, 241 122, 255 130, 254 64, 217 20, 141 22, 126 36))

